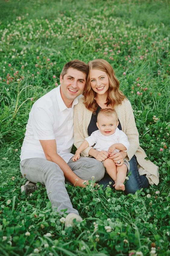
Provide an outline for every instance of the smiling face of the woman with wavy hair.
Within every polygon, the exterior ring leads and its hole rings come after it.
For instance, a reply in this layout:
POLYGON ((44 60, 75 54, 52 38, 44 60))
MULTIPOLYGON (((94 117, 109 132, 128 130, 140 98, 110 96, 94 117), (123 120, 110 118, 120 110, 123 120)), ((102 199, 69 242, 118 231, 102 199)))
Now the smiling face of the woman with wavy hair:
POLYGON ((108 94, 109 77, 104 71, 91 69, 89 78, 93 91, 100 95, 108 94))

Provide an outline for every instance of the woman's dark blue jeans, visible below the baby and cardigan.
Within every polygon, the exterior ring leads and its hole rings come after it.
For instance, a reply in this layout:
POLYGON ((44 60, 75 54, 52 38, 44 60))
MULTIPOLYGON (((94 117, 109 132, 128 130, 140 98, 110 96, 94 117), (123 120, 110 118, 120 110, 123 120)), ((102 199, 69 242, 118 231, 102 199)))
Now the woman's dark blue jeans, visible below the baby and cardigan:
MULTIPOLYGON (((139 175, 139 171, 137 168, 137 160, 136 156, 133 156, 131 160, 129 161, 130 164, 130 176, 129 179, 126 181, 125 184, 125 191, 124 193, 128 195, 129 193, 135 194, 135 192, 138 189, 145 189, 149 188, 149 182, 148 179, 146 178, 146 175, 139 175)), ((103 189, 107 187, 107 185, 110 185, 111 188, 113 188, 113 185, 115 184, 114 180, 106 173, 105 176, 97 182, 100 185, 103 185, 103 189), (109 182, 112 182, 110 185, 109 182)))

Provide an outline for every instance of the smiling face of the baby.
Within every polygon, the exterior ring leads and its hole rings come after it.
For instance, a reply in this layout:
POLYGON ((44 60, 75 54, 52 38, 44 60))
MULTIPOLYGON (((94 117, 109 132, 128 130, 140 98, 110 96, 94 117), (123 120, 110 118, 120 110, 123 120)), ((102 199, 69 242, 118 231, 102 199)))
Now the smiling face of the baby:
POLYGON ((98 123, 96 123, 96 125, 103 135, 109 136, 115 133, 118 123, 114 114, 112 116, 104 116, 101 114, 98 117, 98 123))

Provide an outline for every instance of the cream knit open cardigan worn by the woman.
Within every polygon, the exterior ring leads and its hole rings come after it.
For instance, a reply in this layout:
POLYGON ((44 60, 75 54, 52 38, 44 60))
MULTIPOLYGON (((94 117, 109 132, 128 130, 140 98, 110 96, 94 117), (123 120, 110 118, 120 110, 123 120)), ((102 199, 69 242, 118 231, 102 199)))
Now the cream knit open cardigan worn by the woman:
MULTIPOLYGON (((146 153, 139 146, 139 133, 135 124, 134 113, 129 100, 125 99, 121 105, 115 107, 118 119, 121 123, 122 131, 128 136, 130 147, 127 151, 126 160, 130 160, 132 156, 136 156, 138 162, 139 174, 146 174, 150 184, 159 183, 158 167, 150 160, 145 160, 146 153)), ((87 128, 92 117, 92 112, 83 104, 83 97, 79 99, 79 103, 74 106, 74 145, 76 148, 87 138, 87 128)), ((92 147, 85 149, 81 156, 89 156, 89 150, 92 147)))

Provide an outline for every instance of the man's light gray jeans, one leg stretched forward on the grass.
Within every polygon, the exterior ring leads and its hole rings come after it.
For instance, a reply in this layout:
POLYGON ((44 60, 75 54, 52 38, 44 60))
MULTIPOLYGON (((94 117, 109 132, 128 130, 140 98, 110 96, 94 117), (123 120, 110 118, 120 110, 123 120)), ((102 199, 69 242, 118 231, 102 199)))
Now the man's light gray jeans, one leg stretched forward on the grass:
MULTIPOLYGON (((70 159, 68 165, 78 177, 84 180, 91 180, 91 177, 94 176, 97 182, 105 174, 102 162, 90 157, 80 157, 76 162, 70 159)), ((78 214, 77 210, 73 208, 65 188, 64 173, 56 163, 44 158, 25 159, 20 162, 20 171, 27 180, 34 183, 40 182, 46 186, 52 208, 57 207, 59 213, 62 213, 62 209, 67 208, 68 213, 78 214)))

